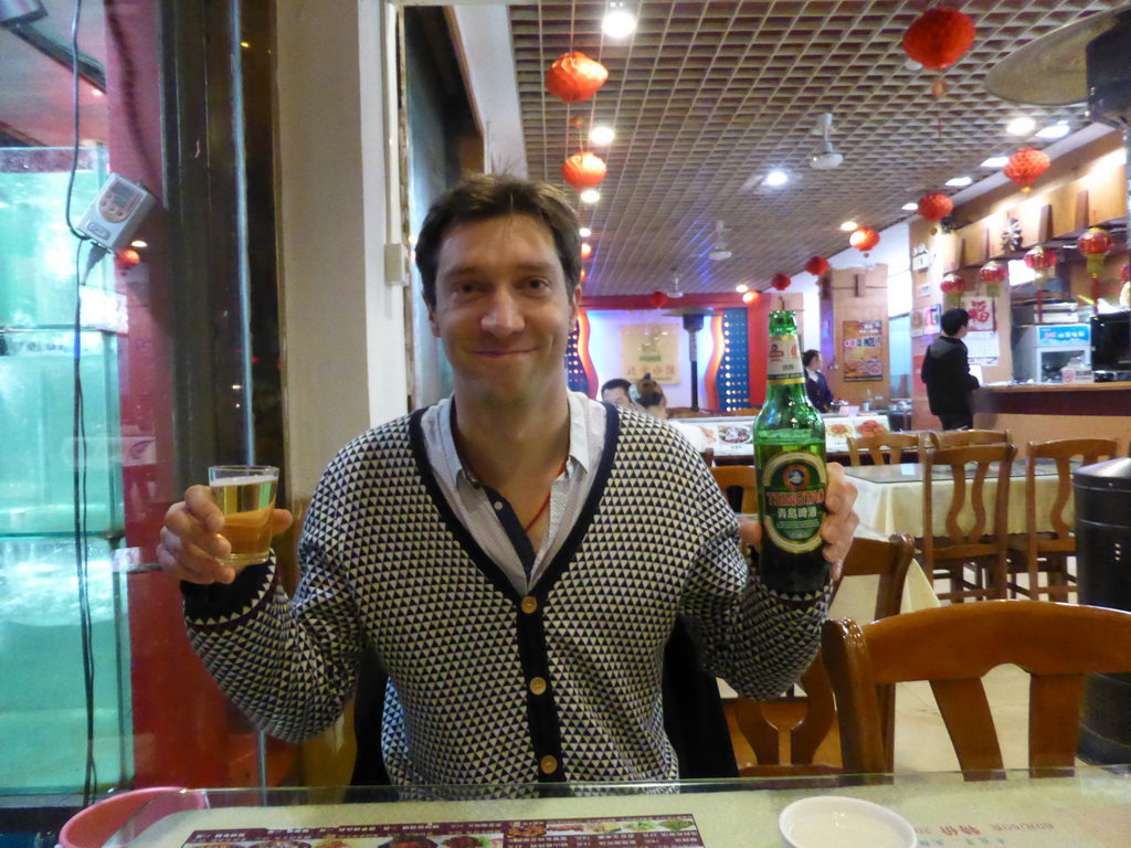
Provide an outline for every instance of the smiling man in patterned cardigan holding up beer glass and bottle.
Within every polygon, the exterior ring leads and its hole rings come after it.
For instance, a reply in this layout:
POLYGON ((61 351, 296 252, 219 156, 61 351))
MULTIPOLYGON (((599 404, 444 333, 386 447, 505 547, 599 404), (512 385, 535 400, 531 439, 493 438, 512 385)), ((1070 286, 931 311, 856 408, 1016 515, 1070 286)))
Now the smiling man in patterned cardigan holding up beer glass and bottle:
MULTIPOLYGON (((705 667, 754 698, 811 661, 828 587, 767 589, 739 546, 761 528, 739 527, 687 441, 568 390, 577 231, 560 192, 509 178, 433 204, 416 261, 455 391, 334 459, 294 598, 274 562, 214 559, 230 546, 206 487, 170 509, 158 556, 185 581, 193 648, 267 733, 334 722, 371 648, 395 782, 667 779, 661 668, 677 618, 705 667)), ((829 477, 821 534, 838 562, 855 487, 839 466, 829 477)))

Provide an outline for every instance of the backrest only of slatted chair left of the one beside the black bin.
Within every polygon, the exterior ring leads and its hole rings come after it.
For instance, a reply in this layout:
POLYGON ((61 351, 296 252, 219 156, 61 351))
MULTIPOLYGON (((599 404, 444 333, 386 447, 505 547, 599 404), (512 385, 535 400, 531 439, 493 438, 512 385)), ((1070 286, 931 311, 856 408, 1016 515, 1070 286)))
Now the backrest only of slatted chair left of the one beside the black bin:
MULTIPOLYGON (((1005 555, 1007 517, 1009 512, 1009 476, 1017 448, 1012 444, 973 444, 966 448, 938 448, 923 453, 923 554, 924 565, 933 566, 935 559, 968 559, 992 553, 1005 555), (967 466, 974 465, 973 479, 967 479, 967 466), (994 503, 994 535, 988 537, 985 482, 991 466, 996 464, 998 479, 994 503), (947 510, 946 533, 934 538, 934 486, 940 467, 949 467, 953 479, 953 495, 947 510), (969 505, 974 522, 964 528, 959 522, 969 505), (1000 552, 996 550, 1000 547, 1000 552)), ((968 520, 964 517, 964 520, 968 520)))

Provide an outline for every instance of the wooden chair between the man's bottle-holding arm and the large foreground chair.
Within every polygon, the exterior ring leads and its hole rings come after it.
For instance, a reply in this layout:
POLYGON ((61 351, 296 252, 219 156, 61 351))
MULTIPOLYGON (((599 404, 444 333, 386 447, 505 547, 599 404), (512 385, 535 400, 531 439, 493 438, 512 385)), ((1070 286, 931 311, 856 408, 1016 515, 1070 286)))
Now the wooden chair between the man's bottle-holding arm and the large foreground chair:
MULTIPOLYGON (((841 582, 853 577, 879 577, 875 596, 875 617, 884 618, 899 612, 904 596, 904 581, 910 565, 914 544, 910 536, 895 535, 888 540, 857 538, 853 542, 841 570, 841 582)), ((839 589, 839 585, 837 586, 839 589)), ((735 724, 750 744, 758 764, 740 768, 742 777, 786 773, 830 773, 837 767, 814 764, 821 743, 828 737, 836 721, 832 687, 821 655, 801 677, 805 690, 803 698, 784 698, 756 701, 739 698, 734 701, 735 724), (789 739, 789 762, 782 762, 782 749, 789 739)), ((880 693, 884 715, 895 716, 895 687, 880 693)), ((895 721, 889 720, 888 727, 895 721)), ((890 746, 889 746, 890 747, 890 746)))

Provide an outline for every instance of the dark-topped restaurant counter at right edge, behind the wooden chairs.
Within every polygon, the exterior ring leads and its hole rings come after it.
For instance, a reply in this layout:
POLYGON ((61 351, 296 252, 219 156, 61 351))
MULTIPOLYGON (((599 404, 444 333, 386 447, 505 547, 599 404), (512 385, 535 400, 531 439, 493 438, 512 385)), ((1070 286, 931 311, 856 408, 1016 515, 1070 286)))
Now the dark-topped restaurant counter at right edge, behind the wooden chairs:
POLYGON ((1026 442, 1115 439, 1125 453, 1131 435, 1131 382, 983 386, 974 392, 974 426, 1010 431, 1018 455, 1026 442))

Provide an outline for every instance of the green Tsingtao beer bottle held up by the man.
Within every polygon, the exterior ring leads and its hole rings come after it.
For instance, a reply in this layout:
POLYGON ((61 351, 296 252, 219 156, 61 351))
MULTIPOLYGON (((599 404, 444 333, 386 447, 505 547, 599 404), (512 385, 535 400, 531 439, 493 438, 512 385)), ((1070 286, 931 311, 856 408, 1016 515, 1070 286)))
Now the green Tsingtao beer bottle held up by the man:
POLYGON ((793 312, 770 312, 766 405, 754 421, 762 550, 758 573, 783 595, 814 597, 829 580, 821 553, 824 423, 809 403, 793 312))

